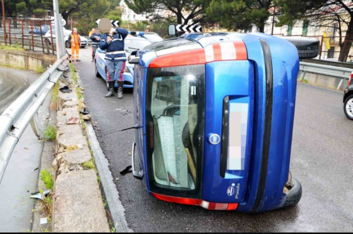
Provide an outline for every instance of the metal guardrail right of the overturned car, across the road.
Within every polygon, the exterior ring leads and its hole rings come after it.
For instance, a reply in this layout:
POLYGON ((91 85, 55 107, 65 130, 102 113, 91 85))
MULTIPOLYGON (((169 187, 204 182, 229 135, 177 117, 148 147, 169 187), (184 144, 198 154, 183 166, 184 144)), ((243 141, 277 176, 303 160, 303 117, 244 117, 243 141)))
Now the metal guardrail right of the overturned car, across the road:
POLYGON ((306 73, 313 73, 318 75, 332 76, 335 78, 340 78, 341 81, 337 89, 341 89, 343 81, 349 79, 353 69, 338 67, 338 66, 328 66, 310 62, 300 62, 300 71, 302 71, 300 80, 303 80, 306 73))

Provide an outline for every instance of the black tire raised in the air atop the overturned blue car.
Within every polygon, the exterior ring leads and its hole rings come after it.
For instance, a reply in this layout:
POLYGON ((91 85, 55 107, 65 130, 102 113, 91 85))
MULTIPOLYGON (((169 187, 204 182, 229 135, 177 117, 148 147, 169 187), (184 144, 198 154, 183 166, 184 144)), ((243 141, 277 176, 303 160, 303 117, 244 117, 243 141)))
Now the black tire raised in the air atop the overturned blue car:
POLYGON ((320 54, 320 41, 316 38, 286 38, 298 49, 299 59, 316 58, 320 54))

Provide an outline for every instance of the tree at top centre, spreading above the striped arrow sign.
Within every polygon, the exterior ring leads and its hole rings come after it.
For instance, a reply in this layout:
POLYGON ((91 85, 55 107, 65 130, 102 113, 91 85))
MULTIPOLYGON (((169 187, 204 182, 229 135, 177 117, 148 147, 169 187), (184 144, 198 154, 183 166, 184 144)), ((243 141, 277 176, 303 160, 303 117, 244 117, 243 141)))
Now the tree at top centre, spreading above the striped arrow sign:
POLYGON ((138 14, 147 13, 153 20, 165 19, 178 24, 204 22, 205 11, 211 0, 125 0, 138 14))

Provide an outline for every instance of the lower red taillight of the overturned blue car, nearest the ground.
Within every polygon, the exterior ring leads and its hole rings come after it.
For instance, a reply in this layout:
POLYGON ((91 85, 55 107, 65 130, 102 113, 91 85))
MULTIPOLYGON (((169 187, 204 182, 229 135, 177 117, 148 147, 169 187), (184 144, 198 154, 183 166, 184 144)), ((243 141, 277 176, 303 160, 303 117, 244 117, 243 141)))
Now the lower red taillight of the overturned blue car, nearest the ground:
POLYGON ((152 195, 162 201, 182 204, 182 205, 191 205, 191 206, 201 206, 207 210, 236 210, 238 208, 237 203, 214 203, 214 202, 207 202, 201 199, 193 199, 193 198, 181 198, 181 197, 171 197, 160 195, 157 193, 152 193, 152 195))

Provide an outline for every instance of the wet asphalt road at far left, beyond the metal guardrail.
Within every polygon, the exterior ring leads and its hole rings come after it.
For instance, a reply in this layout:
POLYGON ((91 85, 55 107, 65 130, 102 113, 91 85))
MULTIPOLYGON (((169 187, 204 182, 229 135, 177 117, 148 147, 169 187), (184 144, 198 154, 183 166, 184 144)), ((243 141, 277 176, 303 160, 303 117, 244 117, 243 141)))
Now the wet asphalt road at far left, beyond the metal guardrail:
MULTIPOLYGON (((0 67, 0 114, 39 76, 35 72, 0 67)), ((46 103, 40 108, 40 119, 48 113, 48 107, 46 103)), ((40 166, 42 151, 43 142, 27 127, 0 184, 1 233, 24 233, 31 229, 34 201, 29 197, 37 190, 39 172, 30 172, 40 166)))

